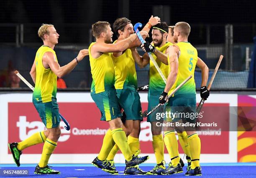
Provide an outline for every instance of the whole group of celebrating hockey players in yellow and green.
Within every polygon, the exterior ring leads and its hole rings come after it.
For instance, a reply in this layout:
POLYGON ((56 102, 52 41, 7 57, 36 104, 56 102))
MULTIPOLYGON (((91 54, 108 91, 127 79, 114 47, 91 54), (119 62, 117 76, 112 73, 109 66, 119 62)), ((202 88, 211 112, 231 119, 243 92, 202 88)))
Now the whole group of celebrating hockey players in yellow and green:
MULTIPOLYGON (((201 142, 195 128, 159 127, 156 113, 164 111, 175 113, 184 110, 195 113, 194 71, 196 66, 202 70, 200 95, 206 100, 210 94, 206 88, 207 65, 197 57, 196 48, 188 43, 190 33, 188 23, 179 22, 175 26, 168 26, 167 23, 161 22, 160 18, 151 16, 140 32, 144 39, 148 37, 151 28, 152 42, 141 45, 134 33, 131 21, 127 18, 118 18, 113 24, 113 31, 118 39, 113 42, 110 24, 98 21, 92 25, 92 35, 96 41, 90 44, 88 50, 81 50, 77 58, 62 67, 59 66, 53 50, 58 43, 59 34, 53 25, 43 24, 39 28, 38 35, 44 45, 36 53, 30 74, 36 84, 33 92, 33 104, 47 130, 35 133, 22 142, 9 143, 14 161, 18 166, 23 149, 44 143, 41 160, 36 166, 35 173, 60 173, 47 165, 61 134, 59 108, 56 103, 56 78, 70 73, 84 56, 89 55, 93 79, 91 96, 100 109, 101 120, 108 121, 110 126, 104 136, 100 153, 92 161, 92 164, 110 174, 118 174, 113 160, 118 150, 121 150, 126 164, 125 175, 182 173, 184 163, 179 157, 178 142, 174 133, 176 130, 188 163, 185 175, 202 175, 199 163, 201 142), (143 56, 136 50, 136 47, 140 46, 146 52, 143 56), (150 65, 148 110, 159 103, 163 105, 161 111, 157 110, 147 117, 147 121, 151 123, 152 145, 156 156, 156 166, 148 172, 138 167, 149 157, 139 156, 141 153, 140 124, 143 118, 140 96, 137 91, 135 63, 140 68, 150 65), (190 75, 192 78, 174 94, 171 94, 190 75), (170 94, 171 97, 168 97, 170 94), (162 130, 164 130, 164 137, 162 130), (171 159, 168 166, 164 160, 164 145, 171 159)), ((166 117, 160 122, 195 123, 196 119, 166 117)))

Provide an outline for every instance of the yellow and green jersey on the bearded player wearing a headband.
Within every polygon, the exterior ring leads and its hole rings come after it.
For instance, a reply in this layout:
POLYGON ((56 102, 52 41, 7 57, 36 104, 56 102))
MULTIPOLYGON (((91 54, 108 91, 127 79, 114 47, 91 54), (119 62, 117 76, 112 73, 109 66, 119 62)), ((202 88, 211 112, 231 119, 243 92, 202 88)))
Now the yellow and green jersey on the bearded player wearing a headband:
MULTIPOLYGON (((152 44, 154 45, 154 43, 152 44)), ((168 46, 172 45, 172 43, 167 42, 162 47, 156 47, 157 50, 159 50, 162 53, 165 53, 168 46)), ((161 62, 161 60, 156 58, 156 55, 154 53, 151 53, 154 59, 156 60, 156 63, 158 64, 160 70, 164 74, 165 78, 168 77, 168 71, 169 71, 169 65, 165 65, 161 62)), ((149 66, 149 88, 148 93, 150 95, 161 95, 161 93, 164 91, 165 83, 164 80, 161 78, 161 75, 156 70, 156 67, 154 63, 150 60, 150 66, 149 66)))

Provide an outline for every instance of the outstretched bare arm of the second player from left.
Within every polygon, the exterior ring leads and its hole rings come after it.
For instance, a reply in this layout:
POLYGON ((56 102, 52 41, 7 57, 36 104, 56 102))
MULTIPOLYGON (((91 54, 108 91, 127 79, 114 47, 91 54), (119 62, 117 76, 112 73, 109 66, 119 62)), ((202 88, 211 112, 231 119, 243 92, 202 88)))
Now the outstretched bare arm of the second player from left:
MULTIPOLYGON (((148 36, 147 32, 141 31, 143 35, 148 36)), ((121 40, 118 44, 107 44, 104 42, 96 42, 91 47, 91 54, 93 58, 99 58, 102 53, 114 53, 114 52, 122 52, 126 50, 129 45, 136 40, 137 35, 133 34, 130 37, 121 40)))

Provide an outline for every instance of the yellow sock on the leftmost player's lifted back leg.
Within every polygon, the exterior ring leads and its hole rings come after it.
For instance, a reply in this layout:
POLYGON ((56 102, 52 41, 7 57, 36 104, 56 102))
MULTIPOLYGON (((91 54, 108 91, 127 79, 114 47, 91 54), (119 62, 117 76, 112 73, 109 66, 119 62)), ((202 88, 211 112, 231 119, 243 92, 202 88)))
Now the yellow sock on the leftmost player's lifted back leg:
POLYGON ((38 143, 44 143, 46 140, 46 136, 44 135, 44 131, 34 133, 30 137, 28 137, 26 140, 23 140, 22 142, 18 143, 18 150, 24 150, 25 148, 36 145, 38 143))

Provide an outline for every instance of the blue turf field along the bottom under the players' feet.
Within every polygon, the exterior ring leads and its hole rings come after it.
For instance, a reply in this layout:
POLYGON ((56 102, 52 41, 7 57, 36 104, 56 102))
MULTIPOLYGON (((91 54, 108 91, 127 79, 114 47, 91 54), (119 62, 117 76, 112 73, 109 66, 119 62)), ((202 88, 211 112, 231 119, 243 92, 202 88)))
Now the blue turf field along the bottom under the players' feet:
MULTIPOLYGON (((54 166, 55 170, 60 170, 61 174, 60 175, 35 175, 34 174, 34 169, 35 169, 34 164, 23 164, 19 168, 16 167, 13 164, 10 165, 0 165, 0 171, 3 172, 3 170, 22 170, 22 169, 27 169, 29 170, 29 175, 28 176, 15 176, 15 177, 56 177, 56 178, 74 178, 74 177, 90 177, 90 178, 95 178, 95 177, 114 177, 114 178, 120 178, 120 177, 125 177, 125 178, 135 178, 135 177, 145 177, 145 178, 156 178, 156 177, 176 177, 176 178, 182 178, 186 177, 189 178, 188 176, 184 176, 185 171, 186 171, 186 166, 183 168, 184 173, 179 173, 175 175, 123 175, 124 170, 124 164, 116 164, 117 170, 119 171, 119 175, 110 175, 108 173, 103 172, 99 168, 95 168, 93 165, 90 164, 52 164, 54 166)), ((140 168, 144 171, 151 170, 153 168, 153 164, 142 164, 140 168)), ((216 177, 224 177, 224 178, 256 178, 256 163, 202 163, 202 177, 205 178, 216 178, 216 177)), ((2 177, 3 175, 0 175, 2 177)), ((4 175, 5 176, 5 175, 4 175)), ((10 175, 5 176, 5 177, 10 177, 10 175)), ((191 176, 190 176, 191 177, 191 176)))

